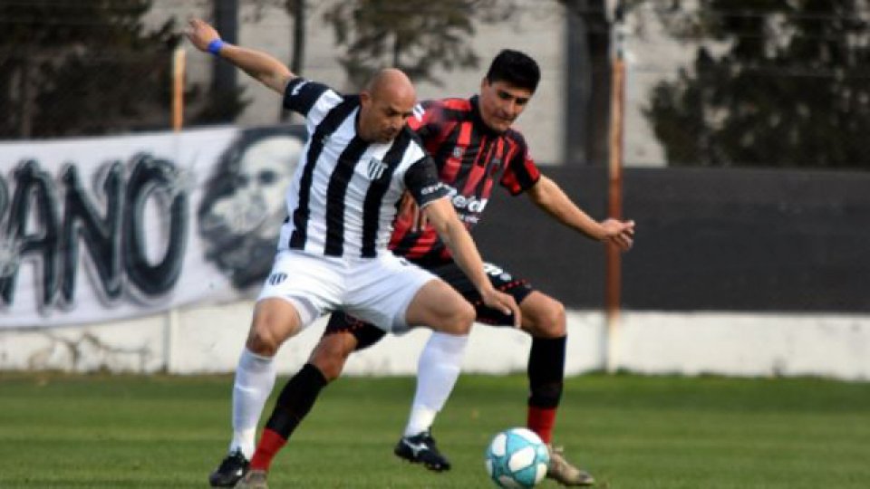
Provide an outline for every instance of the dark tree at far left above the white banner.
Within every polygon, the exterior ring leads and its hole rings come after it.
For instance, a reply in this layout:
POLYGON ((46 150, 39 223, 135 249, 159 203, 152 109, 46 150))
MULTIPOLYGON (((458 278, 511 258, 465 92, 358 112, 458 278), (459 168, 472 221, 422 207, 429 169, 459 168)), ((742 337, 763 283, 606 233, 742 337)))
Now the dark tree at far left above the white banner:
MULTIPOLYGON (((171 53, 179 43, 169 20, 147 31, 151 0, 0 4, 0 138, 48 138, 165 129, 170 125, 171 53)), ((239 93, 222 109, 204 105, 193 87, 187 106, 237 113, 239 93)), ((235 114, 233 114, 235 115, 235 114)))

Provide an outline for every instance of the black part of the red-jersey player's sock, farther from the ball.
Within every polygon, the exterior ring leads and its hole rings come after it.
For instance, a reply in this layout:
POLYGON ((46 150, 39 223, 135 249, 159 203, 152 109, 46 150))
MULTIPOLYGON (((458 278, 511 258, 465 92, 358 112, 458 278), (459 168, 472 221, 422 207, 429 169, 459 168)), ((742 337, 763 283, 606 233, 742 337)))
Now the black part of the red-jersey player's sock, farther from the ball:
POLYGON ((289 438, 314 406, 314 401, 326 384, 324 374, 314 365, 306 363, 281 389, 266 427, 285 439, 289 438))

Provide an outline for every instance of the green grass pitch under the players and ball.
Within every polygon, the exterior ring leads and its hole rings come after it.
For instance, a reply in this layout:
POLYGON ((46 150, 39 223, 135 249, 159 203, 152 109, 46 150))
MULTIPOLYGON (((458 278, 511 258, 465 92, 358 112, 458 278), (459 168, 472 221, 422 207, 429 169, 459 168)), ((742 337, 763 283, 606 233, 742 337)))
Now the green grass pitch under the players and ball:
MULTIPOLYGON (((208 487, 231 380, 0 374, 0 488, 208 487)), ((271 487, 489 487, 482 454, 525 422, 525 378, 459 380, 435 430, 454 463, 442 475, 391 454, 412 390, 408 378, 324 390, 271 487)), ((865 489, 870 384, 585 375, 566 383, 556 442, 613 489, 865 489)))

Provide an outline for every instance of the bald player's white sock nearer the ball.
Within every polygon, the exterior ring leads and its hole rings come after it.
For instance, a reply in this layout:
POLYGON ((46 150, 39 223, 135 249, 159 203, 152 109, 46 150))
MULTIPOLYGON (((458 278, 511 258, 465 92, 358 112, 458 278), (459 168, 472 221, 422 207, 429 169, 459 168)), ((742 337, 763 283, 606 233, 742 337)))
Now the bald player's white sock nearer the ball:
POLYGON ((433 332, 420 353, 417 392, 404 436, 414 436, 432 426, 459 379, 468 336, 433 332))

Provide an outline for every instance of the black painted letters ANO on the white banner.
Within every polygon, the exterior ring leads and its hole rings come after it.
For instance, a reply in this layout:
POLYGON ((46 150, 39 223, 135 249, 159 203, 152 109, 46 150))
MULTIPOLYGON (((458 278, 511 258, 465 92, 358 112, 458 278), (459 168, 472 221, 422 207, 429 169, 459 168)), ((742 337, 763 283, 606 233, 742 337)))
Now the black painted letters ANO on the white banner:
POLYGON ((0 173, 0 306, 14 303, 16 287, 24 290, 17 283, 24 260, 39 264, 43 308, 75 302, 85 258, 104 301, 118 302, 125 292, 159 300, 178 282, 189 227, 188 189, 179 183, 179 170, 147 153, 100 169, 84 177, 69 164, 55 181, 31 159, 8 182, 0 173), (85 183, 91 178, 93 190, 85 183), (149 254, 155 240, 163 242, 156 245, 163 250, 159 258, 149 254))

